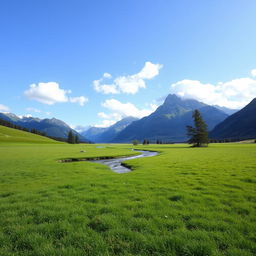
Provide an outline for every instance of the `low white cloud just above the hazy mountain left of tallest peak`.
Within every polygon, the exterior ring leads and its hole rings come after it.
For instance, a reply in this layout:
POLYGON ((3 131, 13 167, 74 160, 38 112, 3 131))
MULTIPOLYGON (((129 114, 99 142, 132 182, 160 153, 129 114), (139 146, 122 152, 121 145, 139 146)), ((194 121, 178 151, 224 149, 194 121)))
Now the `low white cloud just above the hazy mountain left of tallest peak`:
POLYGON ((155 109, 156 105, 151 105, 149 109, 138 109, 132 103, 122 103, 116 99, 106 100, 103 104, 103 107, 114 111, 114 113, 119 114, 121 117, 125 116, 133 116, 142 118, 144 116, 148 116, 151 114, 155 109))

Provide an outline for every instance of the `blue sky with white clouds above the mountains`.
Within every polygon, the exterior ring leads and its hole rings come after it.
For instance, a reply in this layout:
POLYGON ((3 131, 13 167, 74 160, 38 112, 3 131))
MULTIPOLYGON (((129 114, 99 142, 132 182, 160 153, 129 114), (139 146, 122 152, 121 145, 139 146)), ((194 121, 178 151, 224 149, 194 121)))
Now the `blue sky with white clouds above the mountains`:
POLYGON ((3 0, 0 111, 106 126, 169 93, 256 97, 255 0, 3 0))

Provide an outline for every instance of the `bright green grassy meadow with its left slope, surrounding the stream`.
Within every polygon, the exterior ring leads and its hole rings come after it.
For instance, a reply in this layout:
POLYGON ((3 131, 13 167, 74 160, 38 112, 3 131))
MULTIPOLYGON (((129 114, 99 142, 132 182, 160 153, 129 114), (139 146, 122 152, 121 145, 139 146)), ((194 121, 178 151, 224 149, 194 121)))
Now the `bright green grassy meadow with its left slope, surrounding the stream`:
POLYGON ((59 162, 132 147, 0 126, 0 255, 256 255, 256 143, 138 145, 160 154, 125 174, 59 162))

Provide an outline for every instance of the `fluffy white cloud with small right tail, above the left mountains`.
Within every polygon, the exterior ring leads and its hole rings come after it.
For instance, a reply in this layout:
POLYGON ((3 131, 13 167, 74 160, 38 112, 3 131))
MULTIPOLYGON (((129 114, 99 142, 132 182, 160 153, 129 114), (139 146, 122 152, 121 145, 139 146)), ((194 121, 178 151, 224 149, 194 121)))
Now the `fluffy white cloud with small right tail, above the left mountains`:
POLYGON ((30 88, 24 92, 29 99, 39 101, 44 104, 53 105, 61 102, 78 103, 81 106, 88 101, 84 96, 68 97, 71 90, 63 90, 56 82, 31 84, 30 88))

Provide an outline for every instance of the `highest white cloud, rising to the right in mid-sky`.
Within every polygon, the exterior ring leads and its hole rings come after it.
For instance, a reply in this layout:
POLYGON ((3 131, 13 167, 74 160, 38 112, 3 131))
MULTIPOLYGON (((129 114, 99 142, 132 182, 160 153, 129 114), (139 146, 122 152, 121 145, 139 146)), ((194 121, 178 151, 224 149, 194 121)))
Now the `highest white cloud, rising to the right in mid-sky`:
POLYGON ((111 79, 112 76, 109 73, 104 73, 101 79, 93 81, 93 86, 97 92, 102 92, 104 94, 135 94, 140 88, 146 88, 145 80, 153 79, 159 74, 161 68, 162 65, 153 64, 148 61, 137 74, 119 76, 115 78, 112 83, 106 84, 103 83, 104 79, 111 79))

